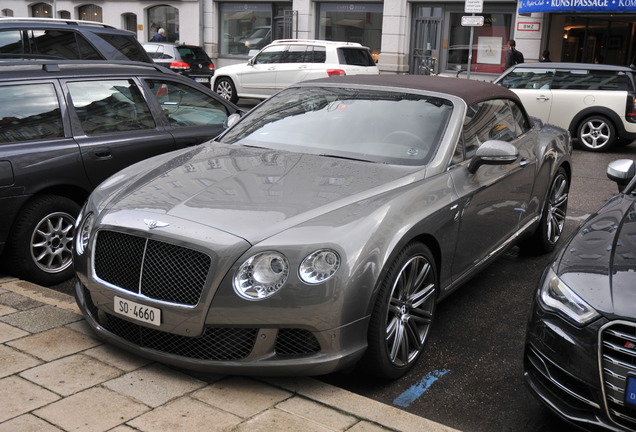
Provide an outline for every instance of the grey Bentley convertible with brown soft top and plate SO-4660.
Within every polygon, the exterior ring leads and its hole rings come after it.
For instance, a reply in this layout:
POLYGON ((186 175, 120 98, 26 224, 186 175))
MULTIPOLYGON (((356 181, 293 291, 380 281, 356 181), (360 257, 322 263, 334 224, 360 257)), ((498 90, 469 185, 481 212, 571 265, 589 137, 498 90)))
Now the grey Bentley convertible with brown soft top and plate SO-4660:
MULTIPOLYGON (((234 117, 230 119, 234 120, 234 117)), ((406 373, 435 305, 518 240, 552 250, 567 131, 480 81, 298 83, 218 139, 133 165, 78 218, 102 338, 215 373, 406 373)))

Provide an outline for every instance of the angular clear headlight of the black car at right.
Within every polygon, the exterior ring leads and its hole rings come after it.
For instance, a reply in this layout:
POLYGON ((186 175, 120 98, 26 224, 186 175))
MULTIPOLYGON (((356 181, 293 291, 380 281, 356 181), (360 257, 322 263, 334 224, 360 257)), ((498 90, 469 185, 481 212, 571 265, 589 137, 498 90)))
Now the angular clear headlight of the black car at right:
POLYGON ((577 325, 585 325, 600 317, 600 314, 568 287, 551 268, 541 285, 539 300, 545 309, 556 311, 577 325))

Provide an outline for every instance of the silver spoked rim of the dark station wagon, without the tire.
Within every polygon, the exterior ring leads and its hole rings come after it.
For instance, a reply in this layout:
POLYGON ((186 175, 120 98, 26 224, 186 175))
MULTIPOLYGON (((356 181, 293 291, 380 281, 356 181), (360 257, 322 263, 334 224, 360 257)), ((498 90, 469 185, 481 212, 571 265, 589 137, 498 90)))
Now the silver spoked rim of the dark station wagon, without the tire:
POLYGON ((47 215, 31 235, 31 257, 46 273, 59 273, 73 263, 73 226, 75 218, 68 213, 47 215))

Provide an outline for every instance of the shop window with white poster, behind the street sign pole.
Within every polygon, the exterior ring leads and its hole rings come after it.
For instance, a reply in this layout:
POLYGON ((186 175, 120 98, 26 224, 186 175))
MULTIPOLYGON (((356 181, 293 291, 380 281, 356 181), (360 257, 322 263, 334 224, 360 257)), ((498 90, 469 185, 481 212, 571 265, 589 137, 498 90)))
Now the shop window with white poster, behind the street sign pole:
POLYGON ((501 73, 504 70, 508 40, 511 35, 512 13, 483 13, 484 25, 472 27, 473 45, 470 43, 471 27, 462 26, 465 13, 450 14, 448 60, 446 69, 467 70, 469 52, 472 50, 471 72, 501 73))

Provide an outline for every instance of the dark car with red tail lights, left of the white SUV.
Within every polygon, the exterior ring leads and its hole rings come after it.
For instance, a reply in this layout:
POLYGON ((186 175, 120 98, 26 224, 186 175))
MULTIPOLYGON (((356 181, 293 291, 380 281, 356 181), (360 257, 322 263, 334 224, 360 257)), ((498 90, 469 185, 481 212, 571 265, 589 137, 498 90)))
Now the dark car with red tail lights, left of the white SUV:
POLYGON ((146 42, 143 47, 155 63, 207 87, 212 86, 214 63, 203 48, 167 42, 146 42))

